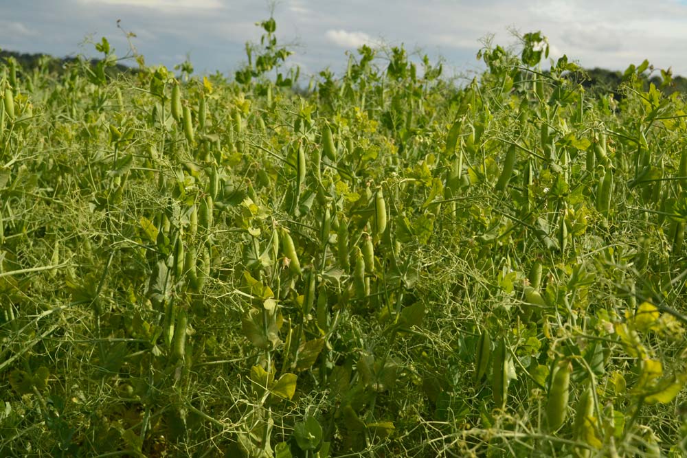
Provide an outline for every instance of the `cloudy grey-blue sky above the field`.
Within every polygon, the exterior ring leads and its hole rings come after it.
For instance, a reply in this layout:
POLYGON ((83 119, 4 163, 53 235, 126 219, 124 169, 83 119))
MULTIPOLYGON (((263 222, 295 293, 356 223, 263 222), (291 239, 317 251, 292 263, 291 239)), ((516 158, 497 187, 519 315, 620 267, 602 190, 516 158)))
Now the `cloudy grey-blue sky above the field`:
MULTIPOLYGON (((117 56, 128 50, 117 29, 148 64, 172 67, 190 56, 196 73, 233 71, 245 62, 245 41, 258 41, 265 0, 0 0, 0 48, 54 56, 95 55, 105 36, 117 56)), ((279 0, 277 36, 306 74, 341 70, 347 50, 363 43, 403 43, 460 73, 484 38, 512 45, 512 30, 541 30, 552 57, 585 67, 625 69, 644 60, 687 76, 687 0, 279 0)))

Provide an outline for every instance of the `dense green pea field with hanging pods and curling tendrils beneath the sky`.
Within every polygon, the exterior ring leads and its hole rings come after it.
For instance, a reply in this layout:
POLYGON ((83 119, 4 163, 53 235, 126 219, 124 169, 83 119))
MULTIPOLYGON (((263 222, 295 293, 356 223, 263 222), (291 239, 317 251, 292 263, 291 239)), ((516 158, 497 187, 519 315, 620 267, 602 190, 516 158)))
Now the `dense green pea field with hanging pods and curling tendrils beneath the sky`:
POLYGON ((687 458, 671 72, 308 84, 259 26, 231 76, 0 62, 0 456, 687 458))

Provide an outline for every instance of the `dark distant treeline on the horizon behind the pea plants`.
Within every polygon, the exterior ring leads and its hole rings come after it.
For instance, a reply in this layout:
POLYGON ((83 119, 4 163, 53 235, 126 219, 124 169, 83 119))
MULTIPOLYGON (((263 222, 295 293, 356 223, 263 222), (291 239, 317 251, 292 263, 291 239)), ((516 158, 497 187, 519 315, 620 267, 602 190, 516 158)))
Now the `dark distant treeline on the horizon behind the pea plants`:
MULTIPOLYGON (((43 69, 55 73, 62 73, 65 64, 78 60, 76 57, 54 58, 46 54, 24 54, 0 50, 0 59, 4 60, 9 57, 14 57, 16 62, 18 62, 25 71, 43 67, 43 69)), ((94 67, 98 65, 98 62, 100 62, 98 59, 91 59, 90 61, 91 65, 94 67)), ((113 74, 136 72, 138 69, 128 67, 127 65, 116 64, 113 67, 107 67, 106 71, 109 74, 113 74)), ((594 68, 570 74, 569 78, 581 82, 585 90, 593 95, 602 93, 617 94, 619 92, 618 88, 622 85, 624 73, 622 71, 594 68)), ((654 73, 648 76, 644 73, 643 78, 646 82, 646 87, 649 87, 649 84, 653 83, 656 87, 661 88, 666 95, 670 95, 674 92, 687 94, 687 78, 683 78, 682 76, 673 76, 671 81, 666 84, 664 84, 664 78, 659 74, 654 73)))

